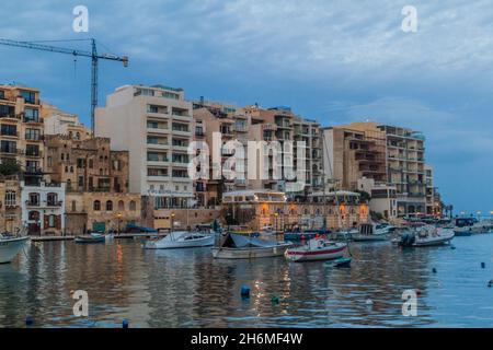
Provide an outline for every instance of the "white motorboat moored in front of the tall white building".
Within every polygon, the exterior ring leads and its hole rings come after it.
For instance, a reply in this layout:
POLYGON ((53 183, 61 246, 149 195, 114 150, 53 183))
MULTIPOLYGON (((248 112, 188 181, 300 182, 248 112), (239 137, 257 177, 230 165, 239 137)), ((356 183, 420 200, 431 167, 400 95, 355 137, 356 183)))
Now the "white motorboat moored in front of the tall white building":
POLYGON ((147 241, 144 245, 146 249, 175 249, 209 247, 214 245, 216 235, 205 232, 176 231, 171 232, 164 238, 158 241, 147 241))

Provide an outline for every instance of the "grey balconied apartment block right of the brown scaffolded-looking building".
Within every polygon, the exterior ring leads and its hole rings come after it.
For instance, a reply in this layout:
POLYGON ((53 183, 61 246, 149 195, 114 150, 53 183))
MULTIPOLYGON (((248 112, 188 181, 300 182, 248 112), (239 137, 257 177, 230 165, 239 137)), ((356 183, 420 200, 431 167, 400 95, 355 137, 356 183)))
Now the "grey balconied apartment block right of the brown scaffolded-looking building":
POLYGON ((397 188, 398 215, 426 213, 424 135, 389 125, 377 128, 386 133, 388 177, 397 188))

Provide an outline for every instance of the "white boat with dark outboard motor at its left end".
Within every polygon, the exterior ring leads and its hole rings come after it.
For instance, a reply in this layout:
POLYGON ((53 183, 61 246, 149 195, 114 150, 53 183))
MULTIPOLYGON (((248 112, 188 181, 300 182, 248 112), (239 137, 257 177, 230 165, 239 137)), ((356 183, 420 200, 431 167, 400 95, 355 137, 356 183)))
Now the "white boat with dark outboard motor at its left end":
POLYGON ((436 229, 435 226, 425 225, 414 231, 409 231, 401 235, 399 246, 402 247, 427 247, 444 245, 454 240, 454 231, 448 229, 436 229))

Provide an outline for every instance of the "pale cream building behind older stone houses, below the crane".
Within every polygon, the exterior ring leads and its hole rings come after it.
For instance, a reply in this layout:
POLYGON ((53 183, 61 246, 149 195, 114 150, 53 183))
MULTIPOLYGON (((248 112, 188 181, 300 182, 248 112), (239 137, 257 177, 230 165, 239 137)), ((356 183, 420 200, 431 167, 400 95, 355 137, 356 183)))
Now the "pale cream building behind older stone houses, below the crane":
POLYGON ((76 140, 85 140, 92 137, 91 130, 79 121, 77 115, 60 110, 45 102, 42 103, 42 117, 45 135, 64 135, 76 140))

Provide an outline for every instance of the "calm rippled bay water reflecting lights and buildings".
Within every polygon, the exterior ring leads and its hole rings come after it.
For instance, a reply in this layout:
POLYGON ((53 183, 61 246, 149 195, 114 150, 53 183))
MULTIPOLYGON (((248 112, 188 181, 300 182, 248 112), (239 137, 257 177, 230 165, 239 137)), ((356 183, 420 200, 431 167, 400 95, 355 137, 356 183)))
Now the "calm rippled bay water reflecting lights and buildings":
POLYGON ((456 249, 353 244, 351 269, 214 260, 208 248, 156 252, 140 243, 33 243, 0 266, 0 326, 24 327, 27 315, 37 327, 119 327, 124 318, 130 327, 493 326, 493 235, 456 237, 456 249), (72 314, 70 291, 79 289, 89 293, 87 318, 72 314), (406 289, 422 291, 416 317, 402 316, 406 289))

